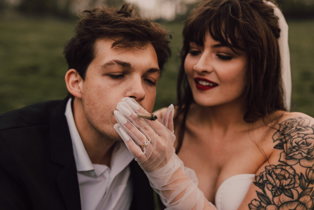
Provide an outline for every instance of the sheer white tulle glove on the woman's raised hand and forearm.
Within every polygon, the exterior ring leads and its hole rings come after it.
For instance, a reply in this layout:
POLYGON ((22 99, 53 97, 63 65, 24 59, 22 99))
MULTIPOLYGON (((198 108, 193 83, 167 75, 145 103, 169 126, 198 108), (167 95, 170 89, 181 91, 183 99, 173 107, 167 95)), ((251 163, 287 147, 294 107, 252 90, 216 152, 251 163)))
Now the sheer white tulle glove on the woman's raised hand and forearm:
POLYGON ((174 107, 170 105, 162 123, 139 118, 149 114, 132 98, 123 98, 114 111, 114 128, 146 173, 150 185, 160 195, 166 209, 216 209, 198 189, 195 172, 184 167, 173 143, 174 107))

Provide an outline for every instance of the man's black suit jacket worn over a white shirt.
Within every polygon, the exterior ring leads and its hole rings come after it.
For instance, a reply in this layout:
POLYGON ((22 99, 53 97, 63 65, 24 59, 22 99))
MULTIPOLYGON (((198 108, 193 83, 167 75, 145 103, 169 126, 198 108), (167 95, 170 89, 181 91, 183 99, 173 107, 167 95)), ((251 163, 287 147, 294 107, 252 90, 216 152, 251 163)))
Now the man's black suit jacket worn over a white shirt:
MULTIPOLYGON (((42 102, 0 115, 1 209, 81 209, 64 116, 67 101, 42 102)), ((130 167, 131 209, 154 209, 148 179, 135 161, 130 167)))

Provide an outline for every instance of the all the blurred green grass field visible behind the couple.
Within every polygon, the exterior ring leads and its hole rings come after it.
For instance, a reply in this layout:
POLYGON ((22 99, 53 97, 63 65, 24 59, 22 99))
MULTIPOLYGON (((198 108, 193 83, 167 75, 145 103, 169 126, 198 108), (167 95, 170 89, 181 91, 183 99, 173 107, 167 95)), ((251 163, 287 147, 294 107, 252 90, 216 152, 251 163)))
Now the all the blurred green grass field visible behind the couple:
MULTIPOLYGON (((157 85, 154 110, 176 102, 182 23, 172 31, 172 56, 157 85)), ((314 20, 288 21, 292 70, 291 111, 314 116, 314 20)), ((56 19, 0 20, 0 113, 67 94, 64 43, 74 22, 56 19)))

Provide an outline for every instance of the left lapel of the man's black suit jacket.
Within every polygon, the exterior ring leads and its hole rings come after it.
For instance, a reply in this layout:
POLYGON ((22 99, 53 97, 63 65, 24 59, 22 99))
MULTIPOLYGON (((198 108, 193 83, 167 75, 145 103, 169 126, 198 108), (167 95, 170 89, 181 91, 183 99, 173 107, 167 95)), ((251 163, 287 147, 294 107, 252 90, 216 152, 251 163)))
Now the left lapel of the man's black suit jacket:
POLYGON ((57 185, 68 209, 81 209, 77 170, 72 141, 64 115, 68 98, 52 111, 50 122, 51 162, 62 166, 56 177, 57 185))

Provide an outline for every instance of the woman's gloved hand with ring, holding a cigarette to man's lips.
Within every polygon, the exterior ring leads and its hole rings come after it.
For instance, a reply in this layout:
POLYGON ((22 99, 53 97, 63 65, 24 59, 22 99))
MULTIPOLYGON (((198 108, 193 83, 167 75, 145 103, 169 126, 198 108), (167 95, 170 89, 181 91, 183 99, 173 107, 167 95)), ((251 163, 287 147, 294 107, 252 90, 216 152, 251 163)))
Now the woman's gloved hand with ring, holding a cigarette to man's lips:
POLYGON ((175 155, 173 112, 174 107, 170 105, 162 119, 164 126, 138 117, 136 113, 149 113, 132 98, 123 98, 114 111, 118 122, 114 128, 145 172, 164 167, 175 155))

